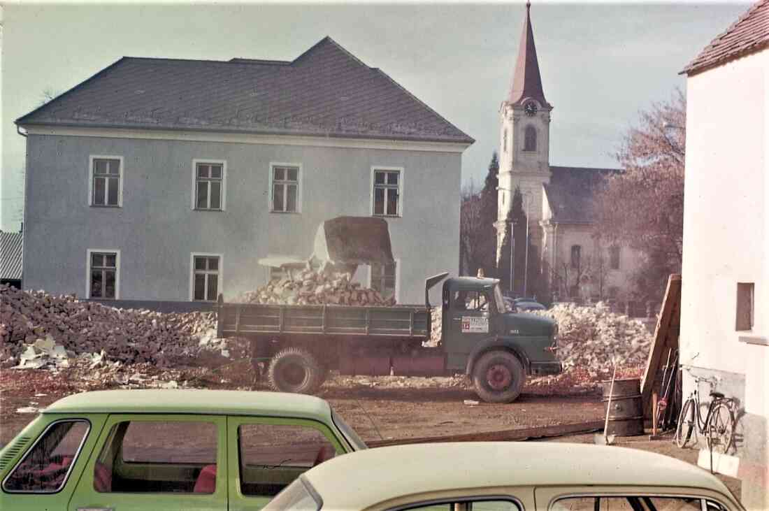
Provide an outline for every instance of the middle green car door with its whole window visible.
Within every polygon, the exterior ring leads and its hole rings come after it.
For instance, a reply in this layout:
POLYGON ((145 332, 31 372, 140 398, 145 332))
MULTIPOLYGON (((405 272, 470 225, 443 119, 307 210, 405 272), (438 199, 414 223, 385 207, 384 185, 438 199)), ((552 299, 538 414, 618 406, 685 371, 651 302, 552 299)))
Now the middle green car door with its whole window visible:
POLYGON ((108 416, 68 509, 225 511, 225 416, 108 416))

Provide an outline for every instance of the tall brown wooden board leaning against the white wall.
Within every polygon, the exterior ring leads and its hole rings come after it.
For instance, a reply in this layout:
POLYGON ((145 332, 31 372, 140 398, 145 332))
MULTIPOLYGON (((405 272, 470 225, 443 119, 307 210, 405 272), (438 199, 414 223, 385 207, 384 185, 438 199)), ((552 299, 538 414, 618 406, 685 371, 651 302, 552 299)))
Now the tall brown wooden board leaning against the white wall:
POLYGON ((641 380, 641 401, 644 417, 651 418, 651 394, 659 391, 662 370, 678 351, 678 333, 681 329, 681 275, 672 274, 667 279, 667 289, 662 302, 662 310, 657 318, 654 340, 649 350, 649 358, 641 380))

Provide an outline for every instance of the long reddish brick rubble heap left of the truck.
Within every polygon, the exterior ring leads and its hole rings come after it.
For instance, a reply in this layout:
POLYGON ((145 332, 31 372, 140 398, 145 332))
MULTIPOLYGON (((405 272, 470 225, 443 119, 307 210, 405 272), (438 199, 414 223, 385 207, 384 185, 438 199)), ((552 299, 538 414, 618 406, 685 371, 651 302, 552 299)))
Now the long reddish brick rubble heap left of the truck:
POLYGON ((230 354, 225 340, 215 340, 215 327, 214 313, 117 309, 0 285, 4 366, 62 367, 69 358, 102 352, 112 361, 161 368, 199 363, 201 357, 230 354))

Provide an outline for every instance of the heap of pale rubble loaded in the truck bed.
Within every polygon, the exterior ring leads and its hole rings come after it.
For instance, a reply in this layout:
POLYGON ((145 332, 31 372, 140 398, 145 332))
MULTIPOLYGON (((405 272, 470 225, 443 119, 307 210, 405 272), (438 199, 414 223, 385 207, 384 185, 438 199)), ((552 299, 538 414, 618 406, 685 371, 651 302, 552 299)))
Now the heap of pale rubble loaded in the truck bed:
POLYGON ((351 274, 325 270, 288 271, 285 277, 272 279, 255 291, 241 294, 245 304, 287 305, 361 305, 391 306, 394 298, 384 299, 373 289, 351 282, 351 274))

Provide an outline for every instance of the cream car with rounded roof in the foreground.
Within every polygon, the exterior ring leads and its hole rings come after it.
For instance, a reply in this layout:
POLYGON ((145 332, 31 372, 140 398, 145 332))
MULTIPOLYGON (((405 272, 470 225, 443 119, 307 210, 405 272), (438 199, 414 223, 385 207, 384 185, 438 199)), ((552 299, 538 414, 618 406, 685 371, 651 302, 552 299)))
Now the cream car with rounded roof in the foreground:
POLYGON ((265 511, 737 511, 724 483, 681 460, 570 443, 431 443, 341 456, 265 511))

